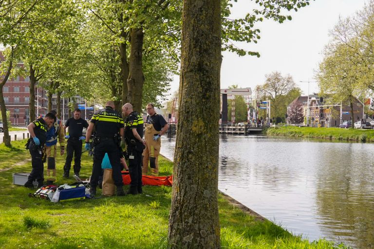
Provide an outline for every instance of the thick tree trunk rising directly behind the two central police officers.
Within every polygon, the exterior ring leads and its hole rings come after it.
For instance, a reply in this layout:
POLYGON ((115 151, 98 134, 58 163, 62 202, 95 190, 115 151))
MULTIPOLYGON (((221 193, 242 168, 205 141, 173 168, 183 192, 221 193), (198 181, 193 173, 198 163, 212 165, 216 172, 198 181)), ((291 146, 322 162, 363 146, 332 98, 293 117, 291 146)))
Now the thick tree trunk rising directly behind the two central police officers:
POLYGON ((142 110, 143 97, 143 29, 131 30, 131 52, 130 52, 130 66, 129 79, 127 80, 128 87, 128 102, 133 106, 133 109, 138 113, 142 110))

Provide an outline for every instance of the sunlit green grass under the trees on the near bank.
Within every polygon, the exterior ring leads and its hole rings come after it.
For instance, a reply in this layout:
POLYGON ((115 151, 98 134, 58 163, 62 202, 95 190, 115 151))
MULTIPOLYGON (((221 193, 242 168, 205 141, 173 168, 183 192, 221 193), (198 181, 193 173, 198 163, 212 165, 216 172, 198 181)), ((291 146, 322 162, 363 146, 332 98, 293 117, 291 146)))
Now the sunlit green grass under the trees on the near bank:
MULTIPOLYGON (((52 203, 28 197, 33 191, 12 184, 12 173, 30 172, 25 141, 0 144, 0 248, 2 249, 167 249, 171 188, 144 186, 144 194, 52 203)), ((57 183, 63 180, 64 156, 57 156, 57 183)), ((172 163, 160 158, 160 175, 172 163)), ((92 158, 82 156, 81 176, 89 177, 92 158)), ((127 188, 127 187, 125 187, 127 188)), ((100 194, 98 189, 98 194, 100 194)), ((219 196, 222 249, 336 249, 319 240, 310 243, 280 226, 243 213, 219 196)))

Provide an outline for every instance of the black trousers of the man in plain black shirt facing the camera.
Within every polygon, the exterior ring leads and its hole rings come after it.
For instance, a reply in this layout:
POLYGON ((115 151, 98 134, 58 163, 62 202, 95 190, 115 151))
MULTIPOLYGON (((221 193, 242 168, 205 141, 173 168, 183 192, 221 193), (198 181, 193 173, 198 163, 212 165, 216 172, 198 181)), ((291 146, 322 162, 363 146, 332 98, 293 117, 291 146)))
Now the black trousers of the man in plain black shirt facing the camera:
POLYGON ((70 137, 68 145, 66 146, 66 161, 64 165, 64 172, 69 172, 72 166, 74 153, 74 173, 80 172, 80 158, 82 156, 82 141, 78 137, 70 137))

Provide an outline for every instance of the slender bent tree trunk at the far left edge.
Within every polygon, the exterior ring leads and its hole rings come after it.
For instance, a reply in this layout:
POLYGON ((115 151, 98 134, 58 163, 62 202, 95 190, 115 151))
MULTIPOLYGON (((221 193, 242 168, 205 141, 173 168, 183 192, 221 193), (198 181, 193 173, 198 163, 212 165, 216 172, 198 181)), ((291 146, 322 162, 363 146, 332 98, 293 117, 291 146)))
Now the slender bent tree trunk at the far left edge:
POLYGON ((5 83, 9 79, 10 72, 13 68, 13 56, 14 56, 14 49, 11 48, 10 58, 9 58, 9 65, 6 70, 6 74, 4 78, 2 79, 0 83, 0 108, 1 108, 1 118, 2 118, 2 128, 4 133, 4 144, 6 147, 12 147, 12 144, 10 143, 10 136, 9 136, 9 127, 8 127, 8 118, 6 116, 6 106, 5 106, 5 100, 4 95, 2 92, 2 88, 4 87, 5 83))

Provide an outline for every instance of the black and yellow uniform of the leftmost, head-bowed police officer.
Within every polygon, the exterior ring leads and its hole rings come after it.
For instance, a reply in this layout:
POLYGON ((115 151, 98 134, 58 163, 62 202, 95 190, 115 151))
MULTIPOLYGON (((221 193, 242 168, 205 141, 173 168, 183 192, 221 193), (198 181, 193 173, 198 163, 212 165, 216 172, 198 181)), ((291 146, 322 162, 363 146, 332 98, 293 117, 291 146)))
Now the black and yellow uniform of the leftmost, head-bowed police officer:
POLYGON ((25 183, 25 187, 32 187, 34 180, 37 180, 38 186, 43 185, 44 177, 44 165, 42 161, 43 147, 45 140, 47 139, 47 124, 43 118, 38 118, 33 122, 35 124, 34 133, 39 139, 40 145, 36 145, 32 138, 28 141, 28 148, 31 155, 31 165, 33 169, 25 183))

